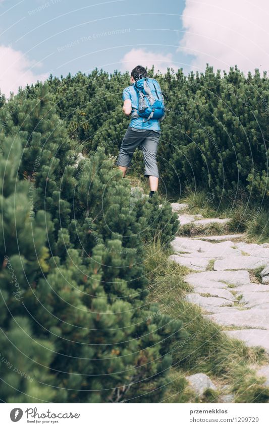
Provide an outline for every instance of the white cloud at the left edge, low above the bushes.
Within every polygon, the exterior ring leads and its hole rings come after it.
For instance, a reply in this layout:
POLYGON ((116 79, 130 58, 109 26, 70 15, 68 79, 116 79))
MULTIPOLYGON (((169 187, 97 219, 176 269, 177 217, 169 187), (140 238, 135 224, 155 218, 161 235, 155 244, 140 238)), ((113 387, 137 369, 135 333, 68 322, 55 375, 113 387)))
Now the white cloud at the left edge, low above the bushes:
POLYGON ((11 46, 0 45, 0 90, 8 98, 10 92, 17 93, 19 86, 45 80, 48 74, 36 74, 35 68, 40 65, 25 57, 19 50, 11 46))

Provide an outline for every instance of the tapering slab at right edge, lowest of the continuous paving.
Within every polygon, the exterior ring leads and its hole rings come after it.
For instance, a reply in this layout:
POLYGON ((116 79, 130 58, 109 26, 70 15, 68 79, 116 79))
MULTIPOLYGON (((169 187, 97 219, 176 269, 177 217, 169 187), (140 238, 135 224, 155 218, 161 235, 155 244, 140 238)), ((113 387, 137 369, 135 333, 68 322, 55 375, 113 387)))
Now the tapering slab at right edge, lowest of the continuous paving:
POLYGON ((229 337, 242 340, 247 346, 261 346, 269 353, 269 331, 259 329, 225 331, 229 337))

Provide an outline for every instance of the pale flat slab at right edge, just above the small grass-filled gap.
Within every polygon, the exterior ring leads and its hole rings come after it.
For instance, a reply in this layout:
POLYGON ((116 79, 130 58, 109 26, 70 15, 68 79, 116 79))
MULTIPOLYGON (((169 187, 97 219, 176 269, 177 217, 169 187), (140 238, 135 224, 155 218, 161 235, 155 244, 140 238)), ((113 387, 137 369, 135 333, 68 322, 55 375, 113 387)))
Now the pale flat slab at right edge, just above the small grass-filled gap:
POLYGON ((225 257, 223 260, 216 260, 214 270, 224 271, 227 269, 257 269, 266 264, 269 259, 255 256, 225 257))

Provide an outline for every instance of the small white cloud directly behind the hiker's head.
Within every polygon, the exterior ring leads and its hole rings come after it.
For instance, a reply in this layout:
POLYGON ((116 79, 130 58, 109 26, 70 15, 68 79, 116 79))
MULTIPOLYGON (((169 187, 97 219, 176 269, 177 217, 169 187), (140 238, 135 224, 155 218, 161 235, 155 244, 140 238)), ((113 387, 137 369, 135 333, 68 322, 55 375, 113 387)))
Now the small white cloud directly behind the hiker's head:
POLYGON ((135 66, 143 66, 151 68, 154 65, 154 71, 159 70, 162 73, 167 72, 167 68, 178 69, 178 66, 173 63, 172 54, 162 54, 150 52, 146 49, 132 49, 127 52, 120 60, 121 71, 131 71, 135 66))

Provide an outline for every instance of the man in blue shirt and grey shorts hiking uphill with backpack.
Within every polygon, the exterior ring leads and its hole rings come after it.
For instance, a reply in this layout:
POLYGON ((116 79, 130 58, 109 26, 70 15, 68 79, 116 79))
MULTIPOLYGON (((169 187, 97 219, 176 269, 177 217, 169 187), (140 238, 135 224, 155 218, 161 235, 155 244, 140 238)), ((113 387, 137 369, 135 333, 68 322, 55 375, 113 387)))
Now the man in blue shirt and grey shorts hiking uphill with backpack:
POLYGON ((147 77, 144 67, 137 66, 132 70, 130 83, 123 91, 122 109, 126 116, 132 113, 131 123, 122 141, 117 165, 125 177, 134 151, 140 146, 151 198, 158 189, 156 155, 160 137, 159 123, 165 116, 164 97, 158 82, 147 77))

